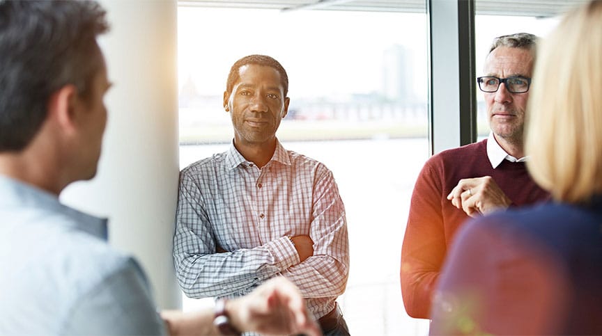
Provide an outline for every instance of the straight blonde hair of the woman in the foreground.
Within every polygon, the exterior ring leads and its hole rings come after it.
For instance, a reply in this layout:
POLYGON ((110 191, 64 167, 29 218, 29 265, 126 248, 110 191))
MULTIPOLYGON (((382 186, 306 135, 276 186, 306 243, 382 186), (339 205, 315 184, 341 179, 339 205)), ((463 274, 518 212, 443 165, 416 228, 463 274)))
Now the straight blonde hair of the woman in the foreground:
POLYGON ((562 202, 602 191, 602 1, 567 15, 541 41, 527 106, 534 180, 562 202))

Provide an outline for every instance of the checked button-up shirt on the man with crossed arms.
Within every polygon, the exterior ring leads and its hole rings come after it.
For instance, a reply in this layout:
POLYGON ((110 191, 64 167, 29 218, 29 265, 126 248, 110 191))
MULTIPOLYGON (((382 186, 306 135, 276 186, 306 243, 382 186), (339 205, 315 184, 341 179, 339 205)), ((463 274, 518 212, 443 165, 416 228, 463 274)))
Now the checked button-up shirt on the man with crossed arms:
POLYGON ((279 142, 261 169, 234 145, 193 163, 180 173, 173 259, 192 298, 242 296, 284 275, 322 317, 345 291, 349 270, 345 209, 332 172, 279 142), (287 238, 301 234, 314 241, 304 262, 287 238))

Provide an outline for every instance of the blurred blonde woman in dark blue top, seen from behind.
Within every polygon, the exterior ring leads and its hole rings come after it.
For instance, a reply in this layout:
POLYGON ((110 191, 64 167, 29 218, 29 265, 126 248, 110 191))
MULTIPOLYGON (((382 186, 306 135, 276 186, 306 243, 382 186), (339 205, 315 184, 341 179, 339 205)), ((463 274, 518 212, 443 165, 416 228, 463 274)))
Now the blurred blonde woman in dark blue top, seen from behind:
POLYGON ((431 335, 602 334, 602 1, 543 40, 526 132, 527 167, 554 202, 463 227, 431 335))

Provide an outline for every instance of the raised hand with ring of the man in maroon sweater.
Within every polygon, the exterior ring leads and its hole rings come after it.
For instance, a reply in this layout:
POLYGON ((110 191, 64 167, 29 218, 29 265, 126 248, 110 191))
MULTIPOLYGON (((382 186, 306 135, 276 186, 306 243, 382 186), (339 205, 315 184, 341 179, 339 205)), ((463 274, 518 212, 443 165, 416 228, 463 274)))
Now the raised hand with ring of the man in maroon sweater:
POLYGON ((512 203, 491 176, 461 179, 447 195, 447 199, 471 217, 507 209, 512 203))

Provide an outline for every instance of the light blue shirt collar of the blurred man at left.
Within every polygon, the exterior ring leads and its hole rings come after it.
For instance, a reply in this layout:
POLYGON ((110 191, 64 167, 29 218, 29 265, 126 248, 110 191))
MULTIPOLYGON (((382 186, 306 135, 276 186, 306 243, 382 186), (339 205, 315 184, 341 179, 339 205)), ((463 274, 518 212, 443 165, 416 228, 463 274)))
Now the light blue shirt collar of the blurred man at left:
POLYGON ((0 195, 2 195, 0 209, 6 207, 7 211, 14 209, 18 211, 19 209, 35 208, 60 213, 70 218, 71 221, 49 221, 49 225, 69 226, 98 239, 107 240, 107 218, 84 214, 82 211, 63 205, 56 195, 36 186, 0 175, 0 195))

